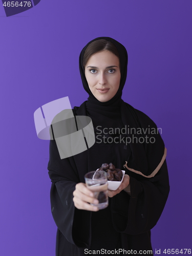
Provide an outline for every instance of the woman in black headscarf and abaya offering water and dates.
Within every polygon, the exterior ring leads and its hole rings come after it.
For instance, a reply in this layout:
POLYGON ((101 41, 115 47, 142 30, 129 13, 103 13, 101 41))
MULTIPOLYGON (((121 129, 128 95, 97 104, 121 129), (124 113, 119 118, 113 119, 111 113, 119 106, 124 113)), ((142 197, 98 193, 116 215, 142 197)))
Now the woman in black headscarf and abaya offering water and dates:
POLYGON ((121 99, 127 60, 126 49, 110 37, 95 38, 80 53, 80 75, 89 98, 73 112, 91 117, 96 142, 87 151, 60 159, 55 141, 50 141, 56 256, 97 250, 105 255, 123 255, 123 250, 144 255, 148 250, 152 255, 150 230, 169 193, 166 148, 156 124, 121 99), (110 162, 124 166, 125 176, 116 191, 109 191, 109 206, 98 210, 90 205, 95 199, 84 175, 110 162))

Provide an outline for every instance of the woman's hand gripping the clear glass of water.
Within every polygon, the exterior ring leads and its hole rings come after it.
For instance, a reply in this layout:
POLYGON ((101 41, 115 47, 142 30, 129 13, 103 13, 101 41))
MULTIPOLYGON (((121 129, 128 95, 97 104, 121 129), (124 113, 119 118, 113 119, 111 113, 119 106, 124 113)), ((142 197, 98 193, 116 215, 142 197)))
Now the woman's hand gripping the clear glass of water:
POLYGON ((85 183, 77 183, 73 191, 73 202, 77 209, 98 211, 98 207, 90 205, 98 204, 98 200, 94 198, 93 192, 87 188, 85 183))

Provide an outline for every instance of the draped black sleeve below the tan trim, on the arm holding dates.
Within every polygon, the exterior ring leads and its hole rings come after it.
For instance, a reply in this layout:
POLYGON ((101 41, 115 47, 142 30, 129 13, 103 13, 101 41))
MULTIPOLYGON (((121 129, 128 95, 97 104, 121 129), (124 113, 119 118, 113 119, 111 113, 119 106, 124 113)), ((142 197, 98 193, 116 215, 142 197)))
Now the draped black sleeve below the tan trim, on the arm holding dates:
POLYGON ((117 231, 127 234, 144 233, 156 225, 168 197, 166 161, 153 178, 137 180, 130 176, 130 187, 130 199, 124 191, 113 198, 114 226, 117 231))

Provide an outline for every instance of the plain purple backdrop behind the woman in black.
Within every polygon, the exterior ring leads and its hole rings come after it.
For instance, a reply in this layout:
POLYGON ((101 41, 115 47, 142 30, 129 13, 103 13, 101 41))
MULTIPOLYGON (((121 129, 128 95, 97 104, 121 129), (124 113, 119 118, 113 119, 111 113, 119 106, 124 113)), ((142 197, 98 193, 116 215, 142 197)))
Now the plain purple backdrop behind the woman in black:
POLYGON ((126 47, 122 98, 162 128, 167 147, 170 194, 154 251, 191 248, 191 9, 191 0, 46 0, 6 17, 0 6, 1 255, 55 255, 49 141, 37 138, 33 113, 65 96, 72 107, 87 100, 78 57, 98 36, 126 47))

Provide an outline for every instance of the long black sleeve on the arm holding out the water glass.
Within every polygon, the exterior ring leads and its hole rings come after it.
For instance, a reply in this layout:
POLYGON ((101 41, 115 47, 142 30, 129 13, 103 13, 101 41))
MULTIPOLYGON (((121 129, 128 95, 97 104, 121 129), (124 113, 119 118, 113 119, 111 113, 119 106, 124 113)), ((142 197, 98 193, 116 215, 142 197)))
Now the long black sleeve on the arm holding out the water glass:
POLYGON ((77 169, 72 157, 60 159, 55 140, 50 141, 48 170, 52 181, 51 211, 58 229, 70 243, 89 247, 91 212, 74 206, 73 191, 80 182, 77 169))

